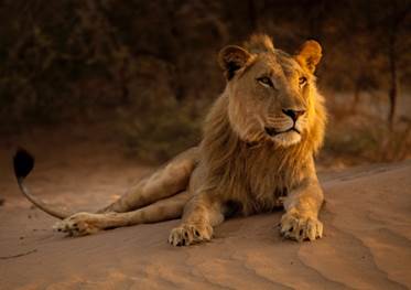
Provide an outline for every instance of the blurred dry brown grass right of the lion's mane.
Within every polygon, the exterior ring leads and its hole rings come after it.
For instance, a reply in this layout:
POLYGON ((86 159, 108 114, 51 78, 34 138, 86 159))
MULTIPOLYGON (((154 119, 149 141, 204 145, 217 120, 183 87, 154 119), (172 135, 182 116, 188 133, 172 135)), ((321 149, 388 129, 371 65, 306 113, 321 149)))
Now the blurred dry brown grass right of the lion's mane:
POLYGON ((397 119, 389 129, 383 114, 383 100, 367 99, 351 111, 349 103, 328 101, 329 125, 323 161, 339 161, 344 165, 370 162, 392 162, 411 158, 411 120, 397 119))

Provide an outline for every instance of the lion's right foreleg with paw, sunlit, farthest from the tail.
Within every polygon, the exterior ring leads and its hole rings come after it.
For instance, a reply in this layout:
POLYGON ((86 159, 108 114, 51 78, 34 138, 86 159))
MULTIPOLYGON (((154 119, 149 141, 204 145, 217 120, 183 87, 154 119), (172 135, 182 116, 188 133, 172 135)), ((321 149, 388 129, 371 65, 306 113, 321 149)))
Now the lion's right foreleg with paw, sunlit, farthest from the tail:
POLYGON ((323 190, 316 179, 310 179, 284 200, 285 214, 281 218, 281 233, 299 241, 323 236, 318 212, 323 204, 323 190))

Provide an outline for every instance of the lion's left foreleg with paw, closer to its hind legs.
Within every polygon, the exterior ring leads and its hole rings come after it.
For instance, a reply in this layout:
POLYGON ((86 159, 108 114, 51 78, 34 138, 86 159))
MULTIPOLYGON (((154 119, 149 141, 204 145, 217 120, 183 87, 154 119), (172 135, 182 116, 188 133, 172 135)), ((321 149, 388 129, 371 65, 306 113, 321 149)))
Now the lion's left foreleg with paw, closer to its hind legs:
POLYGON ((210 240, 213 226, 224 221, 220 202, 213 201, 206 193, 194 196, 185 206, 182 224, 170 233, 173 246, 188 246, 210 240))

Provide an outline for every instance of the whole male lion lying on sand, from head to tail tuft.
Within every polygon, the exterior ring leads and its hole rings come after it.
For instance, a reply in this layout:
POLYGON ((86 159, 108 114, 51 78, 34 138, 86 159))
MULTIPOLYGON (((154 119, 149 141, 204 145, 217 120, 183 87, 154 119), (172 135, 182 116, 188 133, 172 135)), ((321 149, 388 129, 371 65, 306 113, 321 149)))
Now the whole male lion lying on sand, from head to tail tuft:
POLYGON ((289 55, 267 35, 251 36, 244 47, 224 47, 218 62, 227 85, 205 120, 201 144, 96 214, 69 216, 30 195, 23 180, 33 159, 24 151, 14 157, 20 187, 35 205, 63 218, 55 228, 71 235, 182 216, 169 243, 187 246, 209 240, 213 227, 227 216, 283 206, 283 236, 320 238, 323 192, 313 158, 326 115, 313 73, 321 51, 317 42, 307 41, 289 55))

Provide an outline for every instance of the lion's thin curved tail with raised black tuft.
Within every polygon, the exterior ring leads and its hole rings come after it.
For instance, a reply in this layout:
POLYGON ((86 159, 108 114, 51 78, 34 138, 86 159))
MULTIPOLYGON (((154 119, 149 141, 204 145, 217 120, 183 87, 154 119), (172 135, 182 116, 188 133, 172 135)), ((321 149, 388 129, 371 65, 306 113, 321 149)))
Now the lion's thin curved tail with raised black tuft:
POLYGON ((34 158, 28 151, 25 151, 24 149, 18 149, 13 158, 13 165, 14 174, 18 180, 20 190, 30 202, 32 202, 35 206, 37 206, 45 213, 61 219, 64 219, 72 215, 72 213, 53 208, 50 204, 44 203, 39 197, 32 195, 29 189, 24 185, 24 179, 34 168, 34 158))

